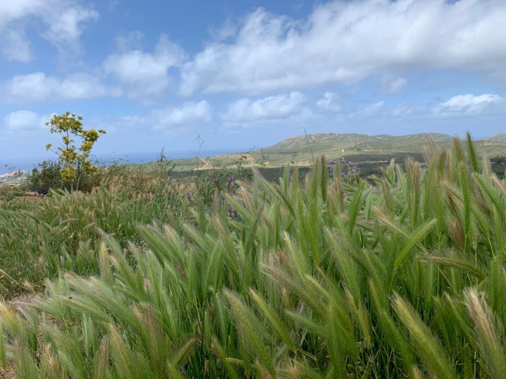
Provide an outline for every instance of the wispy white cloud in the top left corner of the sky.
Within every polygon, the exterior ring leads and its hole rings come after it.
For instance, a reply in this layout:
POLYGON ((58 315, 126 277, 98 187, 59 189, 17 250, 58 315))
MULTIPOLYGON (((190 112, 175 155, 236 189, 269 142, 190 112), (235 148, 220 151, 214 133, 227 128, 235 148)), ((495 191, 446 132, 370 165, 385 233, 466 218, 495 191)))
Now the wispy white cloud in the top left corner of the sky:
POLYGON ((0 7, 0 40, 4 41, 1 52, 8 60, 31 60, 33 53, 25 28, 35 20, 43 25, 41 35, 60 52, 74 54, 79 50, 85 24, 97 18, 93 8, 82 6, 76 0, 4 1, 0 7))

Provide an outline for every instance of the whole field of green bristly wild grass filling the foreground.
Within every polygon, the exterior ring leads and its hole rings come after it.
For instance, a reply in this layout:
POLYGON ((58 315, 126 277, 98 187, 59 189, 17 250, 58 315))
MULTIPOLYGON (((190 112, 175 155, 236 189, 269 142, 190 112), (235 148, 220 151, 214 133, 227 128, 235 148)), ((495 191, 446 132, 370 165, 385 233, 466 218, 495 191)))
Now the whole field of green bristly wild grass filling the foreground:
POLYGON ((277 180, 160 164, 8 201, 0 364, 27 379, 504 377, 504 160, 445 146, 373 177, 369 155, 360 175, 317 158, 277 180))

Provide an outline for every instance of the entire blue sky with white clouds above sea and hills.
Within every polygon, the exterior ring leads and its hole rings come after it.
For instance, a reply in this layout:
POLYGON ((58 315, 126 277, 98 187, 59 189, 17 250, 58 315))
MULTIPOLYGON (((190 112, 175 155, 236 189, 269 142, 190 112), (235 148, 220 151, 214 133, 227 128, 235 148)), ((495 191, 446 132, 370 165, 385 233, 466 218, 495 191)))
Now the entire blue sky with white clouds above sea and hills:
POLYGON ((0 161, 67 110, 98 154, 506 131, 504 0, 1 3, 0 161))

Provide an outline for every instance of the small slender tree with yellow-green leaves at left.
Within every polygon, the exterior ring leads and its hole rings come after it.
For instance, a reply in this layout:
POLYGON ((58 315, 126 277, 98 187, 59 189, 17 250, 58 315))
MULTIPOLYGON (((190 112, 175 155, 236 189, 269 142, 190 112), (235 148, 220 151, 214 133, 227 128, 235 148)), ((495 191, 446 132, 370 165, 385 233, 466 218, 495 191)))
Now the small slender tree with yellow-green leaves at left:
POLYGON ((51 121, 46 122, 50 127, 51 133, 62 135, 62 145, 53 150, 53 145, 46 145, 47 150, 53 151, 58 155, 58 159, 63 166, 61 168, 62 179, 70 184, 70 191, 79 191, 79 182, 83 173, 93 173, 98 170, 90 159, 93 145, 98 138, 105 134, 105 130, 89 129, 82 127, 82 117, 66 112, 58 116, 55 115, 51 121), (75 139, 79 138, 81 146, 77 148, 74 145, 75 139))

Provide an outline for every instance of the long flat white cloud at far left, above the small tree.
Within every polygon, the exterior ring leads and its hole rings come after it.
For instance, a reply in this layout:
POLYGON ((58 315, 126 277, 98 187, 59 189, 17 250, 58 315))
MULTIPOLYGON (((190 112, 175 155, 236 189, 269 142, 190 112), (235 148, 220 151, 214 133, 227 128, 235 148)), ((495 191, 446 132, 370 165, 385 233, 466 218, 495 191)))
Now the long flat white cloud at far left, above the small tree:
POLYGON ((9 102, 76 100, 118 96, 117 89, 104 86, 100 79, 80 72, 64 79, 43 72, 16 75, 4 85, 4 99, 9 102))

